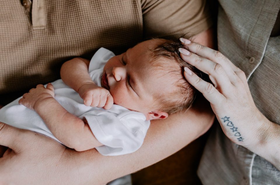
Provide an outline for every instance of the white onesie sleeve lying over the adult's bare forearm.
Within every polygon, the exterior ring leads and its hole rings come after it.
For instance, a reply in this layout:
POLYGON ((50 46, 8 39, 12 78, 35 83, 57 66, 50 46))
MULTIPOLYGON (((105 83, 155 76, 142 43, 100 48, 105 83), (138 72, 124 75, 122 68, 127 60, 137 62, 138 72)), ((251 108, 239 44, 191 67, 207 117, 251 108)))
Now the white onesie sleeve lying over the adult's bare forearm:
POLYGON ((127 109, 119 115, 106 111, 94 114, 88 112, 83 117, 96 139, 104 144, 96 147, 100 154, 106 156, 129 154, 143 144, 150 121, 146 121, 142 113, 127 109))

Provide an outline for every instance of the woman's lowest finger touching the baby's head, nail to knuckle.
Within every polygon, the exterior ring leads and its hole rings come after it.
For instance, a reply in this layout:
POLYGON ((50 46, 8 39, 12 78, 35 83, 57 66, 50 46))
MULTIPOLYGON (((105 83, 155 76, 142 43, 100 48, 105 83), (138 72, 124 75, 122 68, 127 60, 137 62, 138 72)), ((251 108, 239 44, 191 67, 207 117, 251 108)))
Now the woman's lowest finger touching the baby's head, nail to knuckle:
POLYGON ((187 81, 194 86, 211 104, 220 104, 225 99, 211 83, 208 83, 201 78, 199 78, 195 73, 193 73, 188 67, 184 67, 184 76, 187 81))

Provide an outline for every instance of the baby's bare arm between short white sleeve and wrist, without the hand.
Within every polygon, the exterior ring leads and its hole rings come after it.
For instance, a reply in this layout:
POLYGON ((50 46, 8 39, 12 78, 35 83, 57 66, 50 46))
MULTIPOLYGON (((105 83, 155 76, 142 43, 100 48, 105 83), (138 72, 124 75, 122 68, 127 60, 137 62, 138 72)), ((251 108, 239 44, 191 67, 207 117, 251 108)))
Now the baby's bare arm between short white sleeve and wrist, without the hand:
POLYGON ((77 151, 102 145, 92 134, 88 124, 69 113, 54 98, 46 98, 34 106, 52 134, 64 145, 77 151))

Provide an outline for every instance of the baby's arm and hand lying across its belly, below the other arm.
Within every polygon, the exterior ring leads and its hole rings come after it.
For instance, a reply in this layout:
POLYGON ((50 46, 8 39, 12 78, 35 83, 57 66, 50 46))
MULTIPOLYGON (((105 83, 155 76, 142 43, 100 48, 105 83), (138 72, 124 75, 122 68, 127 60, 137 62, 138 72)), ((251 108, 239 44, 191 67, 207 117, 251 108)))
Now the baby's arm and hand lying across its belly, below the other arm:
POLYGON ((103 145, 92 134, 86 122, 69 113, 54 99, 51 83, 47 88, 37 85, 22 96, 19 104, 36 111, 53 135, 69 148, 85 151, 103 145))

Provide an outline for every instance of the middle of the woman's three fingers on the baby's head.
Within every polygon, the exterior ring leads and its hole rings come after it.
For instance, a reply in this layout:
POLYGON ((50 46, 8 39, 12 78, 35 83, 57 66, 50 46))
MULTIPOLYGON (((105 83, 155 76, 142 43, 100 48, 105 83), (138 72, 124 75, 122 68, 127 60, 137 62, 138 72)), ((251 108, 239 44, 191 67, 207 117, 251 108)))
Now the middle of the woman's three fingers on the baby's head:
POLYGON ((225 94, 232 92, 231 81, 220 64, 200 57, 184 48, 180 48, 179 51, 182 53, 181 58, 184 61, 209 75, 215 88, 220 89, 225 94))

